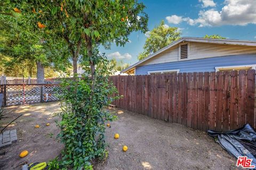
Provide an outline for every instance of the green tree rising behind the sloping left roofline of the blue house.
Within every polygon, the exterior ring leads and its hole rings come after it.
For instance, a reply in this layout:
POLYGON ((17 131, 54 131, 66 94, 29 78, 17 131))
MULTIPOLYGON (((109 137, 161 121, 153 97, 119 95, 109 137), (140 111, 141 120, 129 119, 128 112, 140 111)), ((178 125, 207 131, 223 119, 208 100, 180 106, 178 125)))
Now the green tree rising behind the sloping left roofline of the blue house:
POLYGON ((159 49, 171 44, 180 38, 181 32, 177 27, 169 27, 161 21, 157 27, 148 33, 148 38, 143 47, 144 51, 139 54, 138 59, 142 60, 150 54, 157 52, 159 49))

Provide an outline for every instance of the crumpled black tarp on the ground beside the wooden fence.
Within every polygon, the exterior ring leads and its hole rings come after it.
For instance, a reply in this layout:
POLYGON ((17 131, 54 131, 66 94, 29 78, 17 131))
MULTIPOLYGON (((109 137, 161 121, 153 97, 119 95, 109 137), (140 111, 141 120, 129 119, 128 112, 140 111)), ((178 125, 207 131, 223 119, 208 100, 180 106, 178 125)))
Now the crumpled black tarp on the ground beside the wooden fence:
POLYGON ((238 156, 247 156, 247 158, 252 159, 252 165, 256 167, 256 132, 249 124, 228 132, 209 130, 207 133, 211 137, 217 138, 217 142, 229 154, 236 158, 238 156))

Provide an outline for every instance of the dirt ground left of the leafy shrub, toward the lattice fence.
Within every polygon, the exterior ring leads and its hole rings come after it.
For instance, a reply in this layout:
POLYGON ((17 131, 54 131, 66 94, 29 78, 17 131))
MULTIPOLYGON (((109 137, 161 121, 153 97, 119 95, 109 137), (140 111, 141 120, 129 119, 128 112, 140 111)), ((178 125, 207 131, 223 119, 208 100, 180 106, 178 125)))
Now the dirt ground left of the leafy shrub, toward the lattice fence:
POLYGON ((60 111, 59 103, 7 107, 6 112, 9 111, 11 112, 7 116, 13 117, 2 120, 1 127, 18 115, 23 115, 7 128, 17 129, 18 141, 10 147, 0 149, 0 153, 6 151, 5 155, 0 155, 0 169, 21 169, 25 162, 47 162, 60 154, 63 146, 56 139, 59 129, 55 120, 58 120, 58 116, 54 116, 54 113, 60 111), (46 123, 50 123, 50 126, 46 126, 46 123), (36 124, 40 128, 36 129, 36 124), (20 158, 22 150, 28 150, 29 155, 20 158))

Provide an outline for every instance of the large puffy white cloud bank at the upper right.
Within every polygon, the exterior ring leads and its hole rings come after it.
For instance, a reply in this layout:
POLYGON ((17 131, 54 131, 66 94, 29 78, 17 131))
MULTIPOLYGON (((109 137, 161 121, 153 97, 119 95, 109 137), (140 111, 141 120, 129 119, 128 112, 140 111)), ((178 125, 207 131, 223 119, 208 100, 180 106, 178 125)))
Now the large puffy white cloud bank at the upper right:
POLYGON ((183 18, 182 16, 177 15, 175 15, 174 18, 178 19, 175 20, 177 21, 177 24, 185 21, 189 25, 197 24, 199 27, 218 27, 221 25, 247 25, 249 23, 256 24, 255 0, 225 0, 224 3, 225 6, 222 7, 221 11, 217 11, 214 8, 211 8, 210 10, 199 11, 197 19, 191 19, 189 17, 183 18))

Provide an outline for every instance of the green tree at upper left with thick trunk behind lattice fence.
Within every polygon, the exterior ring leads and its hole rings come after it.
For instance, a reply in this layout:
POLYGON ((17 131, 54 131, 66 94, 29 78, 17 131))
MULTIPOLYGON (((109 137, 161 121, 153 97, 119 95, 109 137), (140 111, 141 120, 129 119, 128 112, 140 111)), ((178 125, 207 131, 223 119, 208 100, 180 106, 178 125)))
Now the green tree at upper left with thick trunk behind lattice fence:
MULTIPOLYGON (((0 53, 10 59, 5 66, 15 69, 19 65, 21 70, 28 67, 31 76, 36 65, 37 81, 43 82, 44 67, 54 67, 54 60, 60 60, 57 54, 63 50, 57 53, 56 48, 48 46, 42 28, 31 22, 34 17, 22 12, 11 1, 0 2, 0 11, 0 53)), ((67 57, 63 56, 62 63, 67 65, 67 57)), ((22 71, 21 75, 26 74, 22 71)))

